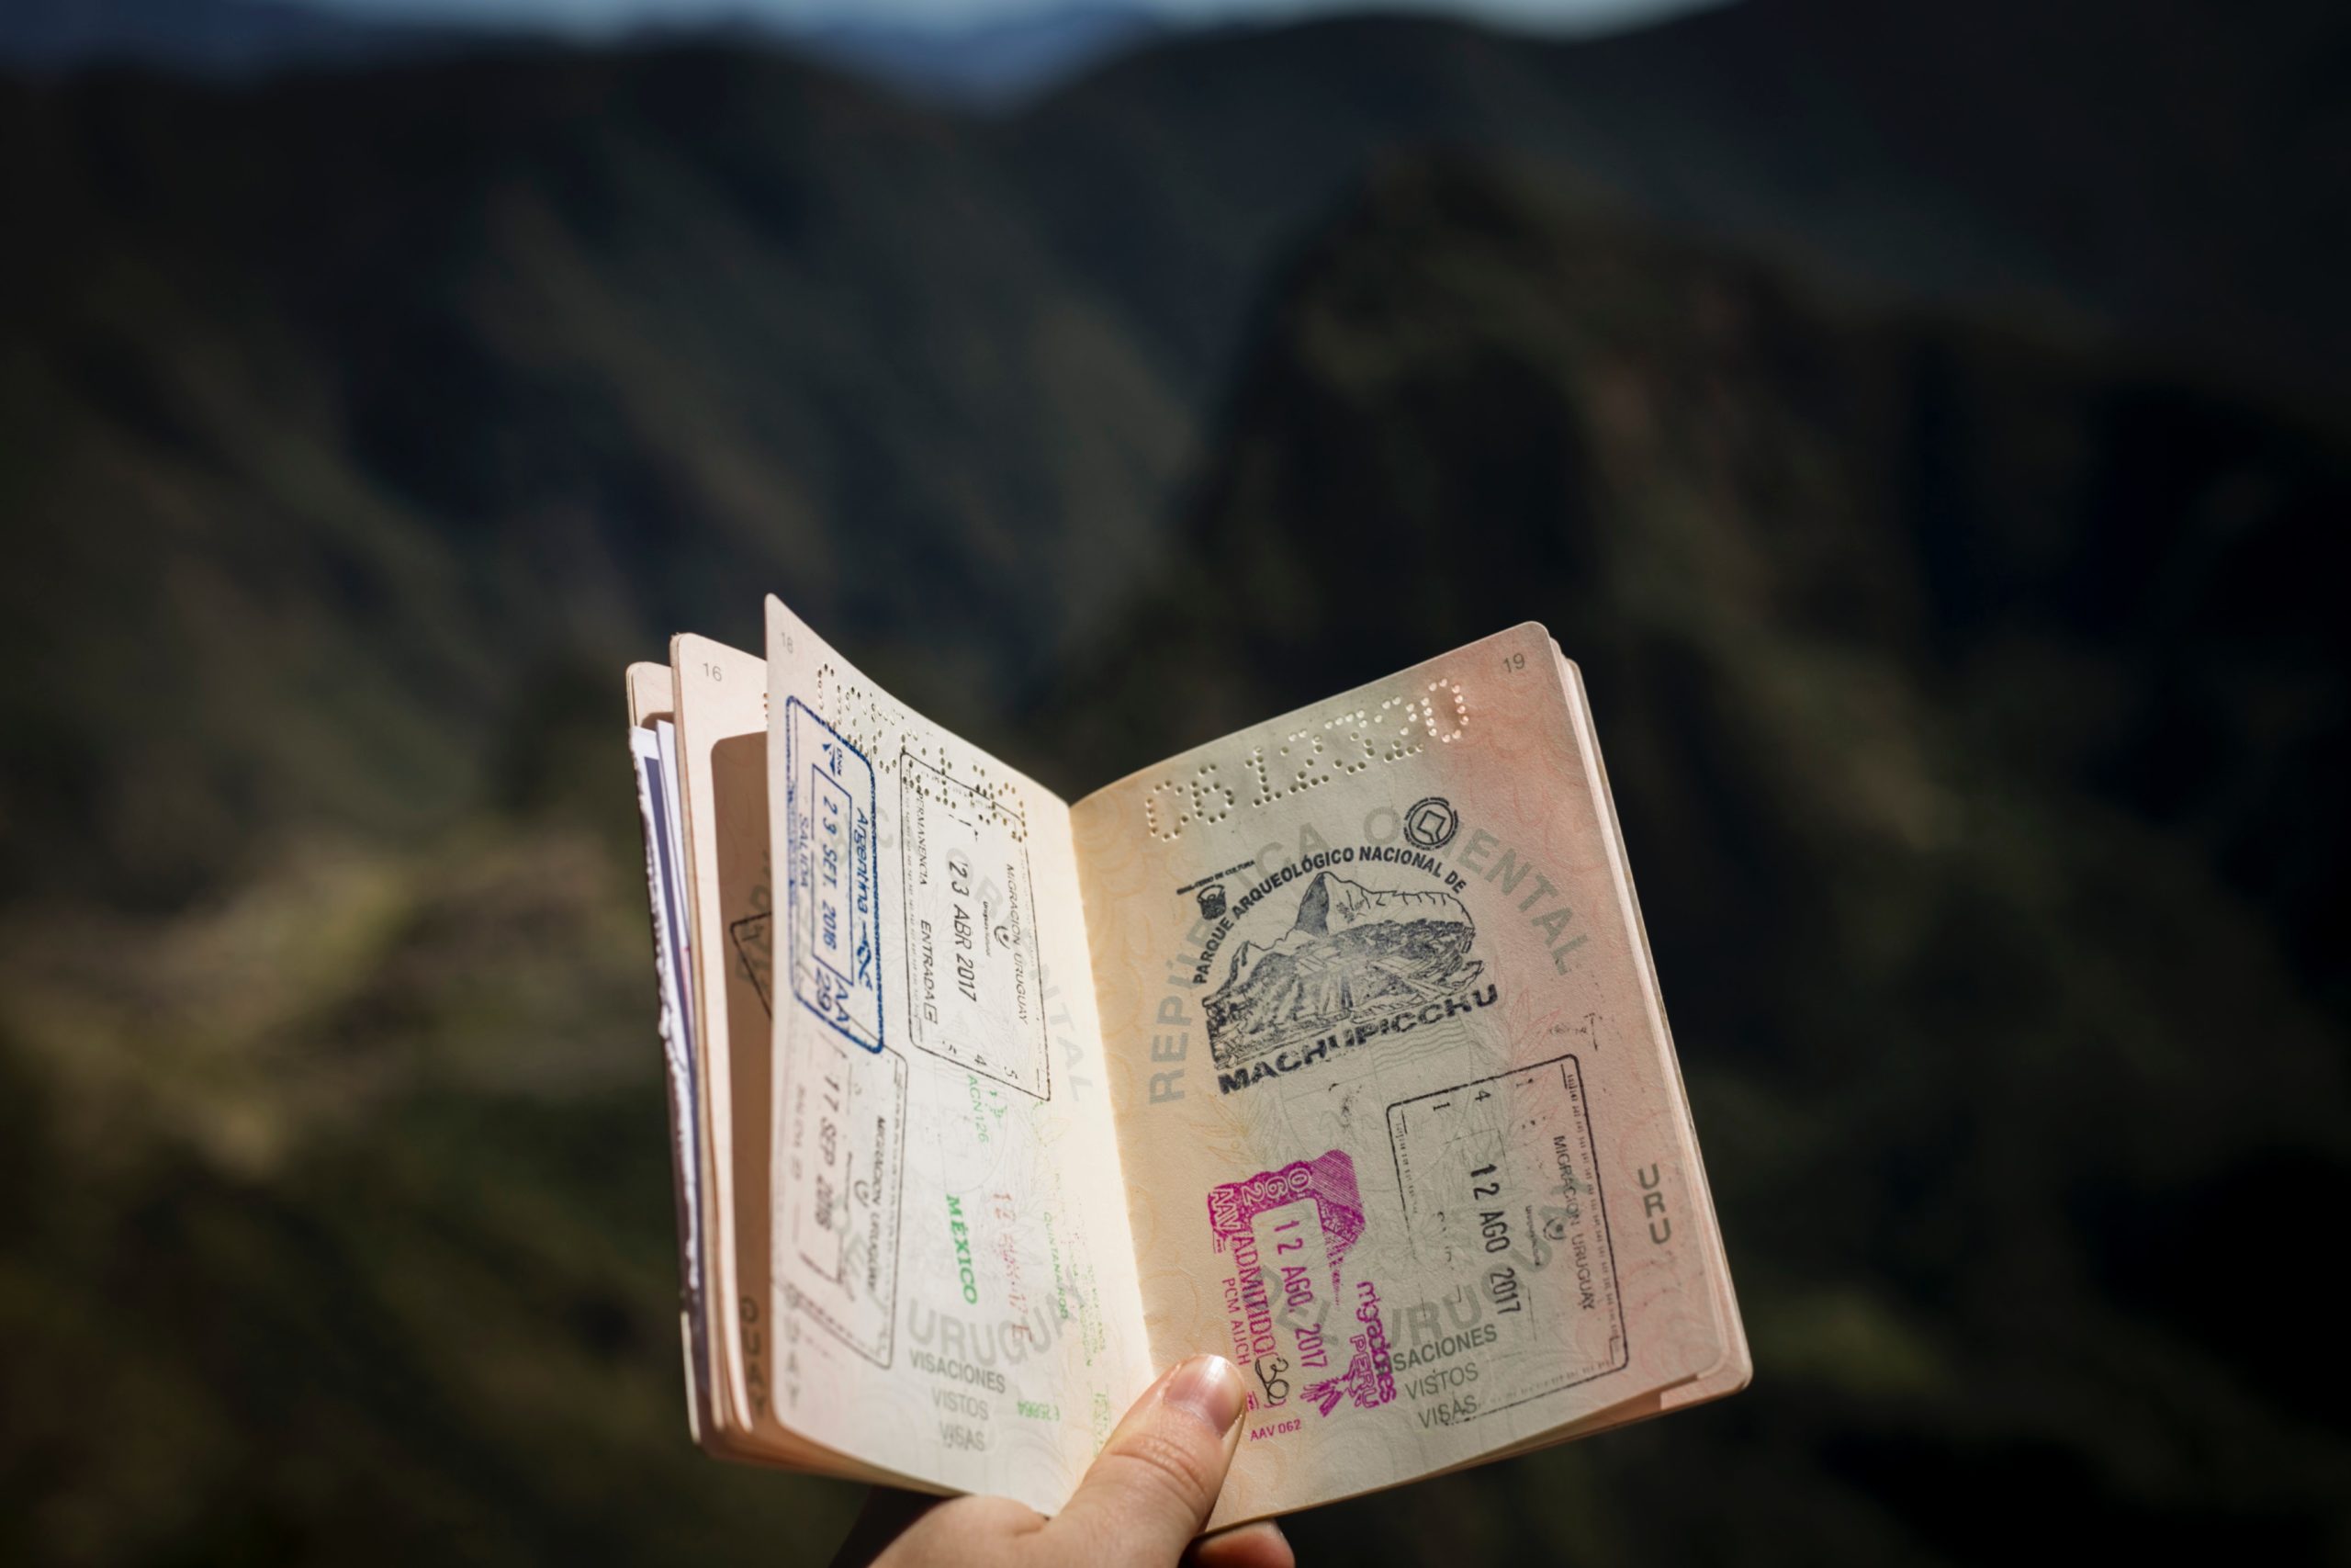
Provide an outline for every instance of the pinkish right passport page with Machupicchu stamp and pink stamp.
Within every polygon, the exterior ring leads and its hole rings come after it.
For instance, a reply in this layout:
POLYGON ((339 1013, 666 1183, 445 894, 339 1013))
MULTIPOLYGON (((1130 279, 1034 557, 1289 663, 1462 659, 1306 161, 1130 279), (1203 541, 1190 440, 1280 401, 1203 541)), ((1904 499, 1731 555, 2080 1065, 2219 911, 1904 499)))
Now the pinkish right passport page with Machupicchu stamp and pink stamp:
POLYGON ((1521 625, 1072 811, 1152 1359, 1215 1521, 1747 1378, 1573 665, 1521 625))

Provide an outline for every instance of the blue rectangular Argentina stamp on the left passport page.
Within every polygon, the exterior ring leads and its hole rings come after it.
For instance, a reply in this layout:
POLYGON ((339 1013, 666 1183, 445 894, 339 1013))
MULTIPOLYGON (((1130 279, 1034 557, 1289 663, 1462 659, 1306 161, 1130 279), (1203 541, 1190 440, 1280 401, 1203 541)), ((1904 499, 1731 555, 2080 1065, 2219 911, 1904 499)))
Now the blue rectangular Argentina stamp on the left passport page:
POLYGON ((785 703, 785 896, 792 994, 882 1048, 882 853, 875 769, 795 696, 785 703))

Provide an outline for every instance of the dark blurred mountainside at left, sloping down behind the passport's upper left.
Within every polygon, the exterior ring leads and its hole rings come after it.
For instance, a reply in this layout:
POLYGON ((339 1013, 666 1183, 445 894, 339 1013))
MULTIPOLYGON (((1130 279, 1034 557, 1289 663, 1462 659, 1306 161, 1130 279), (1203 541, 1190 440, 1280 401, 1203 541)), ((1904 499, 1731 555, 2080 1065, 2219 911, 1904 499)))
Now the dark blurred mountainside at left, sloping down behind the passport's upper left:
POLYGON ((999 696, 1190 430, 983 136, 776 56, 14 87, 0 181, 35 884, 444 820, 557 668, 762 588, 999 696))

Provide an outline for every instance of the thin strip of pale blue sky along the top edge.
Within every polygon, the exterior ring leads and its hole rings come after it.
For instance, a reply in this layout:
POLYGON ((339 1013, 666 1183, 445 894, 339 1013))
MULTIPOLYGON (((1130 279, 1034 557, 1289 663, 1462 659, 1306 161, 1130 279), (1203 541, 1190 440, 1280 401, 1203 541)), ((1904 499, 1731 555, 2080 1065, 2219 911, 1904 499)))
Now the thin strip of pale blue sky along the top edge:
MULTIPOLYGON (((5 0, 0 0, 5 2, 5 0)), ((1359 0, 1110 0, 1178 24, 1284 21, 1368 9, 1359 0)), ((1467 16, 1516 28, 1585 33, 1700 9, 1709 0, 1385 0, 1375 9, 1467 16)), ((567 33, 623 33, 642 26, 696 26, 759 19, 783 28, 828 21, 969 26, 1072 9, 1072 0, 310 0, 322 9, 480 26, 552 26, 567 33)))

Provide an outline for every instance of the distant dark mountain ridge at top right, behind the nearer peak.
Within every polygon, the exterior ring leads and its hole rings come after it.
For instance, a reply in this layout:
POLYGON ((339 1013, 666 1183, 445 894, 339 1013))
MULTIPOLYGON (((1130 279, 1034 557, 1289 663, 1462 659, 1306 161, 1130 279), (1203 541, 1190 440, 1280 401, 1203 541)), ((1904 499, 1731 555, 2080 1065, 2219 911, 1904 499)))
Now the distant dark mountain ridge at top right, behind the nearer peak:
POLYGON ((1208 376, 1364 150, 1434 143, 1554 160, 1848 292, 2344 400, 2346 71, 2351 14, 2320 2, 1747 0, 1559 45, 1406 19, 1183 40, 1023 125, 1063 244, 1208 376))

